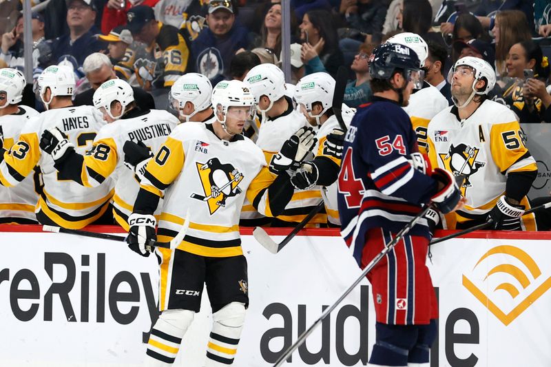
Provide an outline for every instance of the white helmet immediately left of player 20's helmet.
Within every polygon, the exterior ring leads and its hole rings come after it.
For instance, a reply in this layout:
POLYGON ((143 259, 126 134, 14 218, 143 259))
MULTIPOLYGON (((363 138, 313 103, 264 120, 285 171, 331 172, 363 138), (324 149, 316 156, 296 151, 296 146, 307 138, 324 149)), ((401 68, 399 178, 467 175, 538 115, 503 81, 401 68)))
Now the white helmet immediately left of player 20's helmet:
POLYGON ((211 94, 212 84, 209 78, 203 74, 190 72, 176 79, 170 88, 170 106, 189 121, 191 116, 211 105, 211 94), (183 113, 186 102, 193 103, 195 107, 194 112, 189 115, 183 113))

